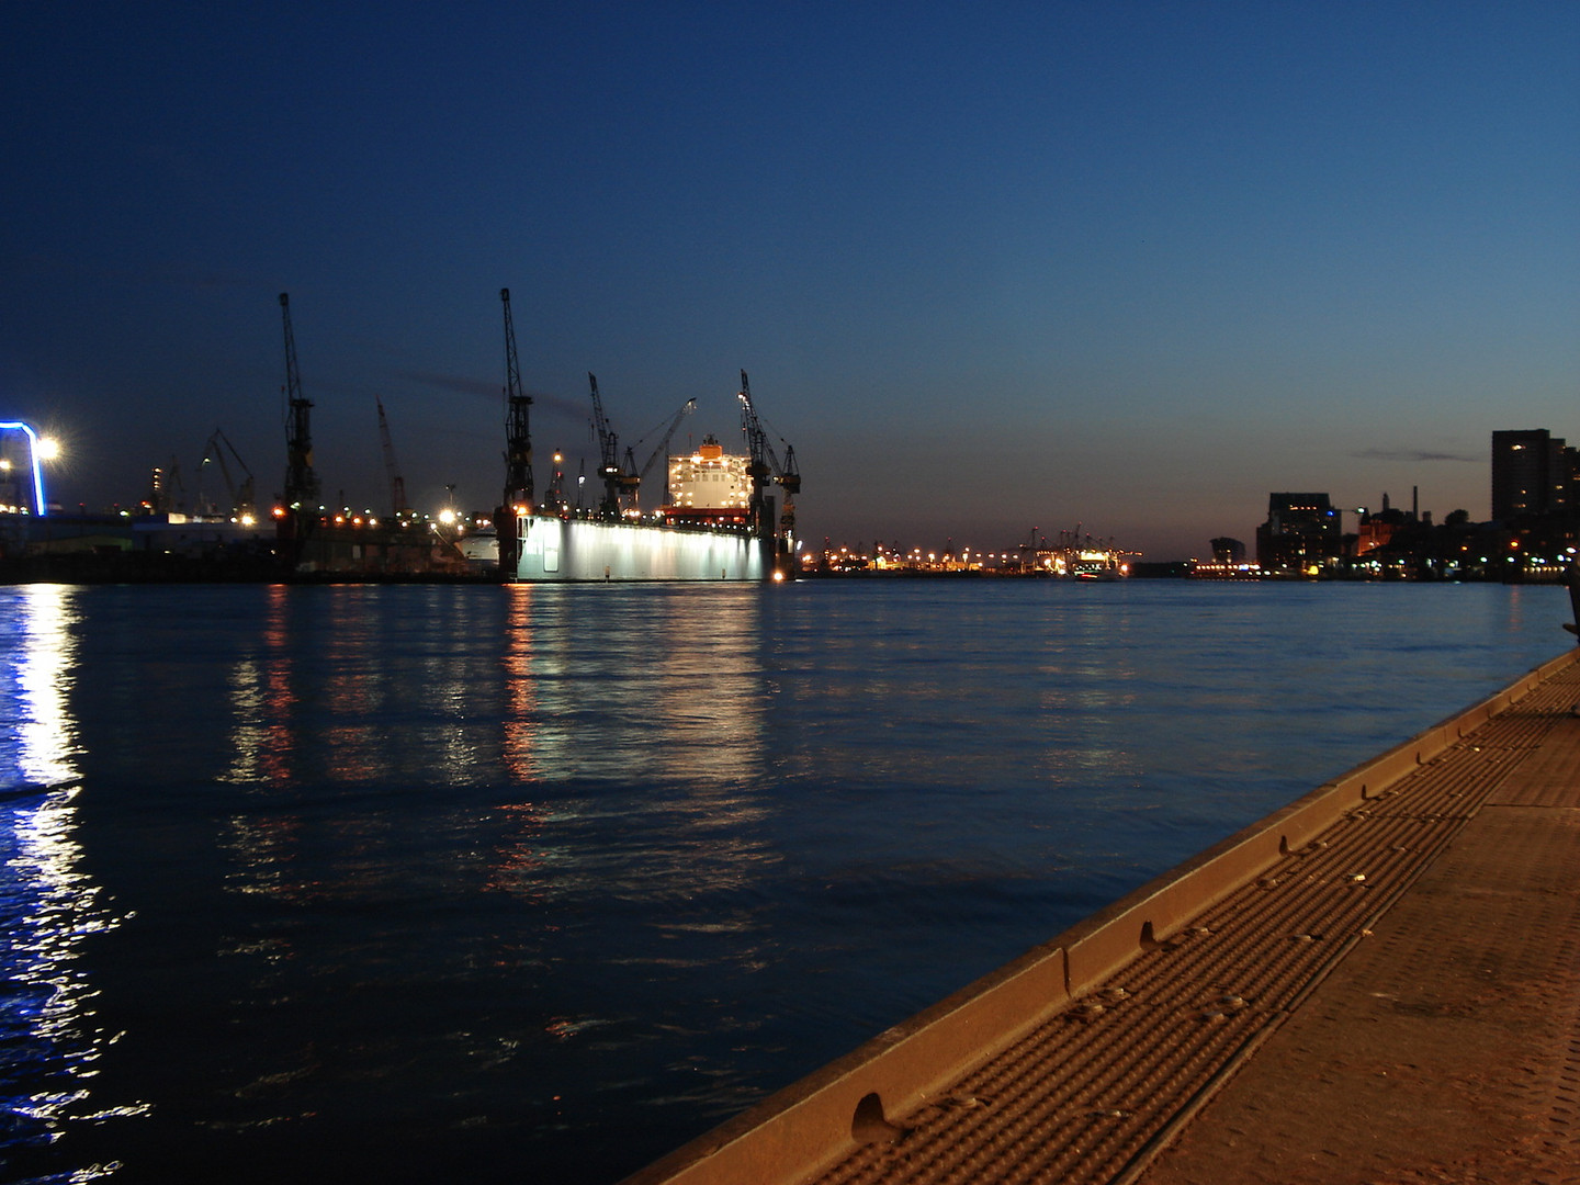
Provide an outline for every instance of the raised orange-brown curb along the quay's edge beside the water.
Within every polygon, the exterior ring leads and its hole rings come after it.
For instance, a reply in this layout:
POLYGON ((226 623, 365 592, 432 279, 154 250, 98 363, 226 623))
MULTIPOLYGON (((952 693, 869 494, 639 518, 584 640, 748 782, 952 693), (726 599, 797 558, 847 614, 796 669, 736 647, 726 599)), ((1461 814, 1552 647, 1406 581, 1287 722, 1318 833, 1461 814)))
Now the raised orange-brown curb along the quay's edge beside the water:
POLYGON ((950 1082, 1093 991, 1193 916, 1256 880, 1346 812, 1431 762, 1580 659, 1503 690, 1324 782, 850 1054, 769 1095, 623 1185, 795 1185, 883 1138, 950 1082))

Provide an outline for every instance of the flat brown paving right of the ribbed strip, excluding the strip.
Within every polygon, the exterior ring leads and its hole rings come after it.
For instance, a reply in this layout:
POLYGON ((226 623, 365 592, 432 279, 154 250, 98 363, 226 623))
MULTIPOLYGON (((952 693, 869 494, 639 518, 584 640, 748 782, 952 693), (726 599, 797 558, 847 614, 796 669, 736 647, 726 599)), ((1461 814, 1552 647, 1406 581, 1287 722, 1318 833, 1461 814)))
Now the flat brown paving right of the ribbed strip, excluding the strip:
POLYGON ((1580 719, 1544 722, 1142 1182, 1580 1182, 1580 719))

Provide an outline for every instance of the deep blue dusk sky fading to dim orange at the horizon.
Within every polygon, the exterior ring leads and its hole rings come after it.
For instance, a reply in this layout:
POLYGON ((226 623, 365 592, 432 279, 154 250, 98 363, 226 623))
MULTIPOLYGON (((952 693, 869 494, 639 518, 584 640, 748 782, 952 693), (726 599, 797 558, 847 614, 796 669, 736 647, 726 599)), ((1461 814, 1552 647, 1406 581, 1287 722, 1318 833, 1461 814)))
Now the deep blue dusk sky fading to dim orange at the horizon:
POLYGON ((374 509, 376 395, 419 509, 498 501, 501 288, 540 485, 588 371, 739 449, 746 368, 812 542, 1480 520, 1493 430, 1580 438, 1574 0, 13 0, 0 79, 0 419, 71 509, 215 428, 280 490, 280 292, 374 509))

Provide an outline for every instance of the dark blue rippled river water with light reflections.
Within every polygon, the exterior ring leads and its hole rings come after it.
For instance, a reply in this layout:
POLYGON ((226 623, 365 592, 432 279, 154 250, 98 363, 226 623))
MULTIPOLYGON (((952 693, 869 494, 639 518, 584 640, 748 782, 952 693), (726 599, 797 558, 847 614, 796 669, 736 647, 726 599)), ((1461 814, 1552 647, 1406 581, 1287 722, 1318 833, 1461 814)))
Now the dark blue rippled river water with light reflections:
POLYGON ((1487 585, 0 588, 0 1179, 618 1180, 1566 618, 1487 585))

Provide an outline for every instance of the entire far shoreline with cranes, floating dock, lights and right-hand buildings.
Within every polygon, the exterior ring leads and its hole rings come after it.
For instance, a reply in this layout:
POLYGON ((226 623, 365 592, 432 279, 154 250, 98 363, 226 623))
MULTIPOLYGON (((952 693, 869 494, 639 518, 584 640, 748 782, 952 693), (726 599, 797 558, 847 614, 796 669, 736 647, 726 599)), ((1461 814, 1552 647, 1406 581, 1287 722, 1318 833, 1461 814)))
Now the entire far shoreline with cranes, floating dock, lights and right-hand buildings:
MULTIPOLYGON (((490 509, 457 506, 446 483, 436 512, 412 507, 384 400, 374 397, 384 507, 332 507, 316 461, 313 409, 303 393, 289 294, 278 295, 284 382, 280 491, 216 427, 188 491, 182 465, 153 466, 134 506, 73 514, 46 495, 58 442, 24 420, 0 423, 0 581, 769 581, 803 577, 1040 577, 1082 583, 1131 577, 1196 580, 1556 583, 1580 553, 1580 450, 1540 430, 1492 431, 1492 509, 1474 521, 1455 509, 1346 507, 1327 491, 1273 491, 1240 539, 1209 540, 1204 558, 1155 561, 1115 536, 1032 528, 1021 540, 978 548, 894 542, 809 547, 796 525, 801 469, 771 431, 739 371, 739 444, 714 433, 676 452, 697 412, 687 398, 621 447, 597 376, 588 373, 586 428, 596 450, 570 461, 553 450, 539 480, 532 403, 521 379, 510 291, 499 289, 504 382, 502 474, 490 509), (640 455, 638 455, 640 450, 640 455), (589 465, 591 463, 591 465, 589 465), (589 472, 591 468, 591 472, 589 472), (662 480, 660 480, 662 479, 662 480), (1346 523, 1346 515, 1348 523, 1346 523)), ((559 403, 566 403, 559 400, 559 403)))

